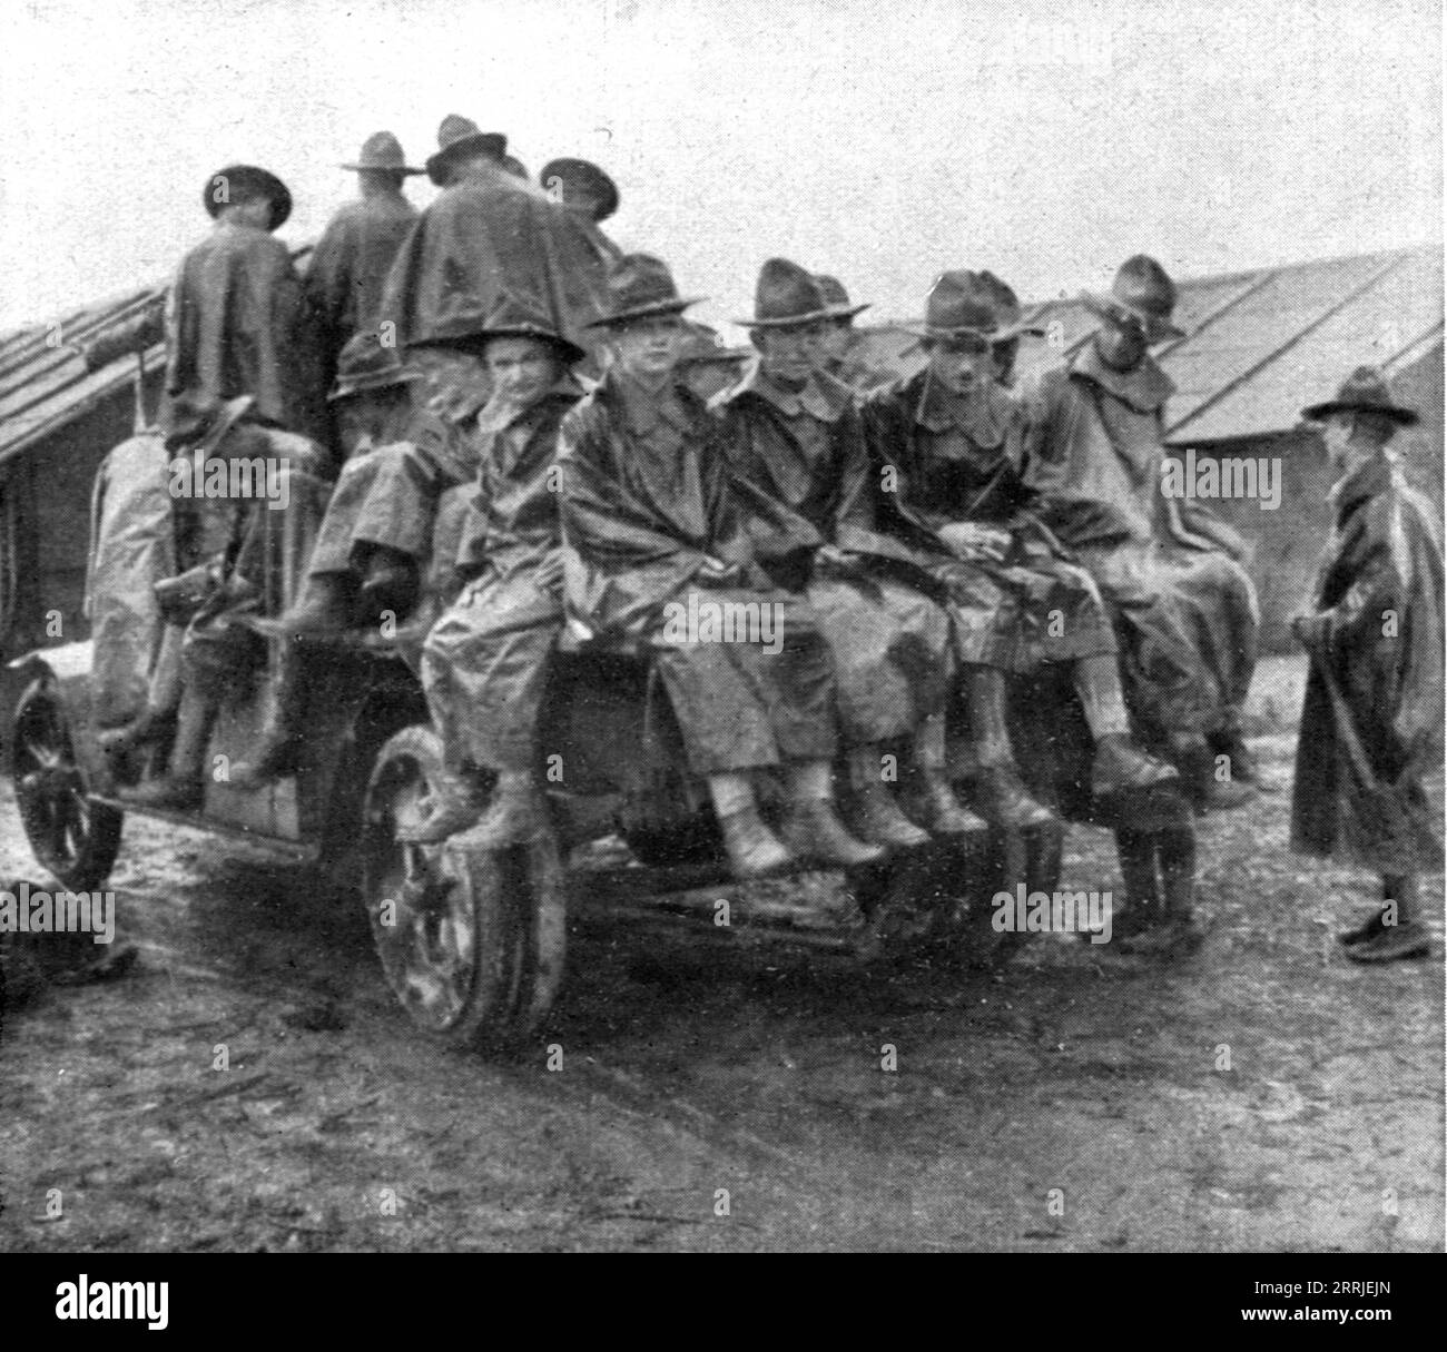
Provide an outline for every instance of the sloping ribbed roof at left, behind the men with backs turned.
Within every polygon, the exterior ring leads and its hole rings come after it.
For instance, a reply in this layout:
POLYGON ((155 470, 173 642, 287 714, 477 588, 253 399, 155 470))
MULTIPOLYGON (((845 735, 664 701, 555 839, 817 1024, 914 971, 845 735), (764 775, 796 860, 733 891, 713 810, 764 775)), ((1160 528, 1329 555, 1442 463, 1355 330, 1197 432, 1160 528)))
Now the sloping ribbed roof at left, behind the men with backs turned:
MULTIPOLYGON (((311 244, 292 250, 298 263, 311 244)), ((80 418, 97 402, 126 388, 136 373, 135 357, 122 357, 96 372, 87 372, 74 346, 94 343, 107 331, 137 318, 164 295, 168 283, 129 291, 61 315, 48 324, 32 324, 0 335, 0 461, 43 441, 67 422, 80 418)), ((146 366, 165 360, 155 344, 146 366)))

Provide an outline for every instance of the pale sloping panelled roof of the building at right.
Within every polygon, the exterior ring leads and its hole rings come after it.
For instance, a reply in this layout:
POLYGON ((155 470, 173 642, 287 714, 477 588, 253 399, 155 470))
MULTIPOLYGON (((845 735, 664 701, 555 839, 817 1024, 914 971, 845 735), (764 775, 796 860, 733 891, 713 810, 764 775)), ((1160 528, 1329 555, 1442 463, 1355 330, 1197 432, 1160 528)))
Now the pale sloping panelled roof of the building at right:
MULTIPOLYGON (((1098 321, 1078 299, 1033 312, 1045 341, 1020 346, 1017 379, 1029 385, 1069 359, 1098 321)), ((1262 268, 1179 283, 1176 325, 1187 337, 1158 351, 1176 383, 1168 440, 1229 441, 1291 431, 1299 409, 1325 399, 1357 366, 1388 375, 1443 341, 1441 247, 1402 249, 1262 268)), ((871 348, 896 370, 897 325, 878 325, 871 348)))

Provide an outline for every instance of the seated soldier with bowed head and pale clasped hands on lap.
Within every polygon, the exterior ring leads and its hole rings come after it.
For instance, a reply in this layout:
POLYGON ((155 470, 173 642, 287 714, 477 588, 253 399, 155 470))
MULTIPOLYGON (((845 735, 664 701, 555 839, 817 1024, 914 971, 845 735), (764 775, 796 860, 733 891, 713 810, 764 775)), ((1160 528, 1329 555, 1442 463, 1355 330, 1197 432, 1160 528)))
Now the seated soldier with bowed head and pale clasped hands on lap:
MULTIPOLYGON (((988 272, 946 272, 935 281, 919 330, 929 364, 864 406, 865 435, 899 512, 936 538, 936 552, 983 574, 971 578, 972 591, 997 617, 1004 665, 1071 664, 1095 739, 1091 790, 1107 798, 1174 779, 1175 771, 1134 745, 1100 593, 1032 510, 1024 411, 1000 386, 993 350, 1037 330, 1006 294, 1013 298, 988 272)), ((952 567, 935 565, 942 577, 952 567)), ((977 719, 991 745, 1007 737, 993 701, 980 701, 977 719)))

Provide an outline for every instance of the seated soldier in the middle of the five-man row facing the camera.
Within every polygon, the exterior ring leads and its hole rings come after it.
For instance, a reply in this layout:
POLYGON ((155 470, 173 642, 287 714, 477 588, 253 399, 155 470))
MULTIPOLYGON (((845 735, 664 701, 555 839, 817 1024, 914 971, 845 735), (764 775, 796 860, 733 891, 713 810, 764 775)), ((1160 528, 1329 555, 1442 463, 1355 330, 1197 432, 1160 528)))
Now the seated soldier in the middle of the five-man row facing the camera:
MULTIPOLYGON (((758 508, 754 548, 773 580, 806 597, 833 654, 839 720, 849 752, 849 821, 871 843, 912 847, 929 840, 888 787, 900 748, 910 804, 930 830, 962 834, 981 821, 945 776, 945 700, 954 678, 954 629, 945 589, 917 554, 886 529, 858 409, 848 386, 820 369, 820 340, 833 314, 813 276, 770 259, 745 324, 760 360, 718 402, 734 471, 758 508)), ((974 662, 988 642, 972 641, 974 662)), ((1003 698, 1003 684, 1001 684, 1003 698)), ((1009 749, 1006 750, 1006 756, 1009 749)), ((1029 824, 1049 814, 1010 763, 997 762, 990 808, 1029 824)))

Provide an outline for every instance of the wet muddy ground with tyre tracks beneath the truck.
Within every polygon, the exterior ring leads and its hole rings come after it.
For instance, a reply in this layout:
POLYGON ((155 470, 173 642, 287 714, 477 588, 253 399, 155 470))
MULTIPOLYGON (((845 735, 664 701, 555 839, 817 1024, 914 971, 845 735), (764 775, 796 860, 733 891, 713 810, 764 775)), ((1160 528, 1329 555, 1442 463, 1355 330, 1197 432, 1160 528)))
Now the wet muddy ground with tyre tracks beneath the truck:
MULTIPOLYGON (((1291 739, 1256 749, 1187 960, 1042 936, 886 979, 601 925, 580 882, 508 1063, 412 1031, 355 901, 129 818, 139 972, 6 1018, 0 1248, 1440 1249, 1440 899, 1430 963, 1337 957, 1363 885, 1285 852, 1291 739)), ((9 791, 0 870, 43 878, 9 791)), ((1119 888, 1104 833, 1064 881, 1119 888)))

